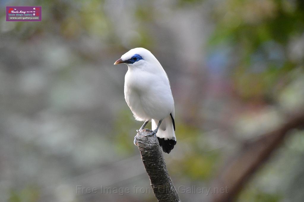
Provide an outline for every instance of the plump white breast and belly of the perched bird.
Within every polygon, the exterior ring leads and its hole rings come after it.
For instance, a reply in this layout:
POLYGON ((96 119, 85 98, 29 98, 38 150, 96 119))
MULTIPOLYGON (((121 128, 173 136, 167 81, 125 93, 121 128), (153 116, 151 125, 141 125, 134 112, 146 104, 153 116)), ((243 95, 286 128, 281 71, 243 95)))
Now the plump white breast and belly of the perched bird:
POLYGON ((170 85, 165 74, 129 68, 125 76, 125 99, 136 120, 160 120, 174 108, 170 85))

